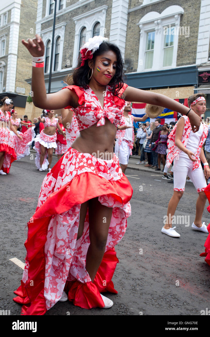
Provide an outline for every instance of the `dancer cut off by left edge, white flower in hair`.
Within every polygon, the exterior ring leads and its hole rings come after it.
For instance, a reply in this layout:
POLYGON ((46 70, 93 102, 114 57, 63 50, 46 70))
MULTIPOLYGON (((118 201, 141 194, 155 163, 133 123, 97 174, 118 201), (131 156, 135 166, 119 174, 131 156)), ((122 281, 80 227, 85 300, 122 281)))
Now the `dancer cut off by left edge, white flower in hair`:
POLYGON ((9 173, 11 163, 17 159, 14 150, 15 140, 10 133, 13 131, 19 139, 23 139, 19 135, 15 127, 10 123, 8 111, 13 107, 13 102, 8 97, 2 99, 3 105, 0 109, 0 174, 6 175, 9 173))

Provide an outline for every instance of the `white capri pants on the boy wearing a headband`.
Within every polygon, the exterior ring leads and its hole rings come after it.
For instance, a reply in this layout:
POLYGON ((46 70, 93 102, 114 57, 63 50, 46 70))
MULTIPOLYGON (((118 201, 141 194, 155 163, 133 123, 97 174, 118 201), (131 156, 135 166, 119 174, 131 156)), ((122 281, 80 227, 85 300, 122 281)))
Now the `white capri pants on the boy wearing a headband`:
POLYGON ((180 157, 174 159, 174 191, 184 191, 187 176, 192 180, 197 193, 202 192, 206 184, 201 163, 192 171, 193 162, 189 158, 180 157))

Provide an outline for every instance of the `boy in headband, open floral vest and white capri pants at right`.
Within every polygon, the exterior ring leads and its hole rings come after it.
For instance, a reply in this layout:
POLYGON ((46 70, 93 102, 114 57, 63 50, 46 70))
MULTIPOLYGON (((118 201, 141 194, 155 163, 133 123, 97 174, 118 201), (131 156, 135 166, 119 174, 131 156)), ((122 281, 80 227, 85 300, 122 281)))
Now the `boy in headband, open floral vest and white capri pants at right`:
POLYGON ((174 230, 176 227, 172 228, 172 219, 184 193, 187 175, 192 180, 198 193, 195 220, 192 223, 192 228, 196 231, 208 233, 205 223, 202 224, 202 215, 206 204, 205 177, 207 179, 210 177, 209 165, 202 149, 208 134, 208 127, 201 120, 201 115, 206 111, 206 100, 202 95, 204 94, 194 94, 187 101, 188 106, 200 118, 198 132, 193 133, 188 116, 182 116, 168 136, 166 163, 167 167, 169 167, 174 160, 174 194, 169 201, 165 225, 162 227, 161 232, 172 237, 180 237, 180 234, 174 230), (204 164, 204 173, 201 161, 204 164))

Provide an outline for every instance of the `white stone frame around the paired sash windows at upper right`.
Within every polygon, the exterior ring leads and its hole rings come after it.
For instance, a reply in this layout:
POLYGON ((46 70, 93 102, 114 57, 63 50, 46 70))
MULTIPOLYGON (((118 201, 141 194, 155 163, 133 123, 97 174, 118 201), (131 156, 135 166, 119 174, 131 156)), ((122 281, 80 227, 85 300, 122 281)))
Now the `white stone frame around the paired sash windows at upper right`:
POLYGON ((153 11, 147 13, 143 18, 141 18, 141 20, 137 24, 140 28, 140 43, 139 43, 137 72, 165 70, 176 67, 179 35, 178 34, 174 35, 172 65, 163 67, 164 38, 165 38, 163 31, 164 27, 169 26, 169 24, 171 26, 175 26, 177 29, 177 27, 180 26, 180 16, 183 13, 184 9, 181 6, 173 5, 164 9, 161 14, 153 11), (147 33, 151 31, 155 31, 153 65, 152 68, 145 69, 147 33))

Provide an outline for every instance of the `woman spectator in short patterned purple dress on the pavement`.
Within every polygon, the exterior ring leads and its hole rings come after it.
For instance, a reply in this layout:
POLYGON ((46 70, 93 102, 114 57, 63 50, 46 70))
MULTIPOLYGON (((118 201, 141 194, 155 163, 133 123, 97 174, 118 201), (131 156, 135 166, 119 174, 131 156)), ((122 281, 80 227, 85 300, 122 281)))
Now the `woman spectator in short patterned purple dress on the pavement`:
POLYGON ((158 168, 155 171, 160 171, 160 161, 162 159, 163 168, 165 167, 165 155, 167 150, 167 140, 168 140, 168 124, 163 124, 162 131, 159 132, 158 140, 155 142, 157 144, 157 148, 154 151, 158 153, 158 168))

